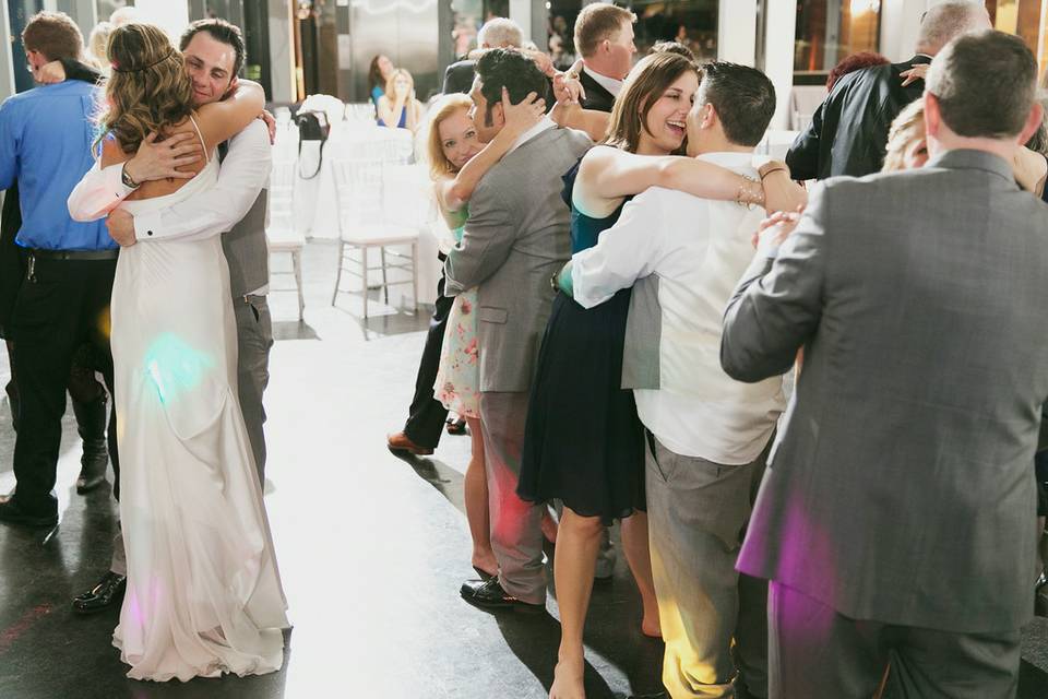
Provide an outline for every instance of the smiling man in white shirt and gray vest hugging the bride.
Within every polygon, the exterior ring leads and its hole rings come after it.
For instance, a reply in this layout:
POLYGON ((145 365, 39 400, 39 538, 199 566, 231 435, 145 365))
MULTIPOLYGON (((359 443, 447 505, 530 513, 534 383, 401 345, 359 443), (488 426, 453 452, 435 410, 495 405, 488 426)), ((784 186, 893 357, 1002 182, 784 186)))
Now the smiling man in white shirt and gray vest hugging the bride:
MULTIPOLYGON (((180 48, 186 71, 192 80, 193 99, 207 104, 224 98, 236 87, 243 66, 245 48, 240 29, 224 20, 201 20, 182 35, 180 48)), ((172 139, 174 141, 174 139, 172 139)), ((134 158, 123 165, 93 170, 70 196, 70 210, 109 211, 120 199, 146 179, 186 177, 177 171, 187 161, 201 157, 201 150, 176 142, 143 143, 134 158)), ((222 234, 222 247, 229 265, 229 286, 237 320, 237 384, 240 410, 254 455, 259 483, 265 482, 265 411, 262 393, 269 382, 273 329, 266 304, 269 251, 265 188, 270 174, 269 132, 260 120, 219 146, 222 168, 217 183, 203 196, 150 215, 132 217, 116 210, 106 222, 109 235, 122 246, 164 245, 222 234)), ((92 214, 94 215, 94 214, 92 214)), ((91 591, 73 601, 81 613, 105 608, 119 600, 124 587, 123 540, 117 536, 110 570, 91 591)))

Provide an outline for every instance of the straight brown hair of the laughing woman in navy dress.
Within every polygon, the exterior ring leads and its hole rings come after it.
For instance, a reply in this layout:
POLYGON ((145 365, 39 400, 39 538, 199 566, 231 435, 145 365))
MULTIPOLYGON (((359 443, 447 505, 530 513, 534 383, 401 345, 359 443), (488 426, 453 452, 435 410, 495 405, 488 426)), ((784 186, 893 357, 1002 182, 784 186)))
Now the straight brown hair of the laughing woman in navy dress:
MULTIPOLYGON (((641 133, 647 131, 647 115, 652 107, 688 71, 700 75, 694 62, 670 51, 650 54, 638 61, 626 79, 622 92, 615 99, 604 143, 636 153, 641 133)), ((683 153, 683 150, 680 152, 683 153)))

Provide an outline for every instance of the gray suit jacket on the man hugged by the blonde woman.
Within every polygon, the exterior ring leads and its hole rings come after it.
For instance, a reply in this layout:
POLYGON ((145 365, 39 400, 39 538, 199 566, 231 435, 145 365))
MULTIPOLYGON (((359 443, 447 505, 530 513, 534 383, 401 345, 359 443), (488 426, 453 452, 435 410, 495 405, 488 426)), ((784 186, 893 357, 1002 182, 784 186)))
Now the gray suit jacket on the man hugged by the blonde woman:
POLYGON ((571 258, 561 175, 590 149, 579 131, 543 131, 488 170, 469 200, 469 220, 444 262, 444 294, 478 293, 480 391, 532 386, 553 292, 571 258))

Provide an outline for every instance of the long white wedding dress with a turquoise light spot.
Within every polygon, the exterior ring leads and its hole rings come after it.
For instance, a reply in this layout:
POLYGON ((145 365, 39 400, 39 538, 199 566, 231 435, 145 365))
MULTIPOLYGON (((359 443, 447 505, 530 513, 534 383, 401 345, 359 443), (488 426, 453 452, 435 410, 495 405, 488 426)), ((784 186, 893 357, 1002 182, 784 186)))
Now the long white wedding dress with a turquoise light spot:
MULTIPOLYGON (((178 191, 122 208, 170 206, 217 175, 212 157, 178 191)), ((134 679, 277 671, 287 602, 237 401, 219 237, 122 248, 110 308, 128 555, 114 645, 134 679)))

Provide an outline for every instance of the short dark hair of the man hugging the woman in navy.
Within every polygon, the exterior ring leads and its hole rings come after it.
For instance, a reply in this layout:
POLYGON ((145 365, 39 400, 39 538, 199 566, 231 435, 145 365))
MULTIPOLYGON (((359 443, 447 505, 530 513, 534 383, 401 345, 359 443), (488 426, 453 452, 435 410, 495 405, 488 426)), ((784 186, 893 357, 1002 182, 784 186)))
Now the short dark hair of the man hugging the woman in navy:
POLYGON ((713 105, 731 143, 752 146, 775 114, 775 86, 755 68, 712 61, 702 66, 695 104, 713 105))

